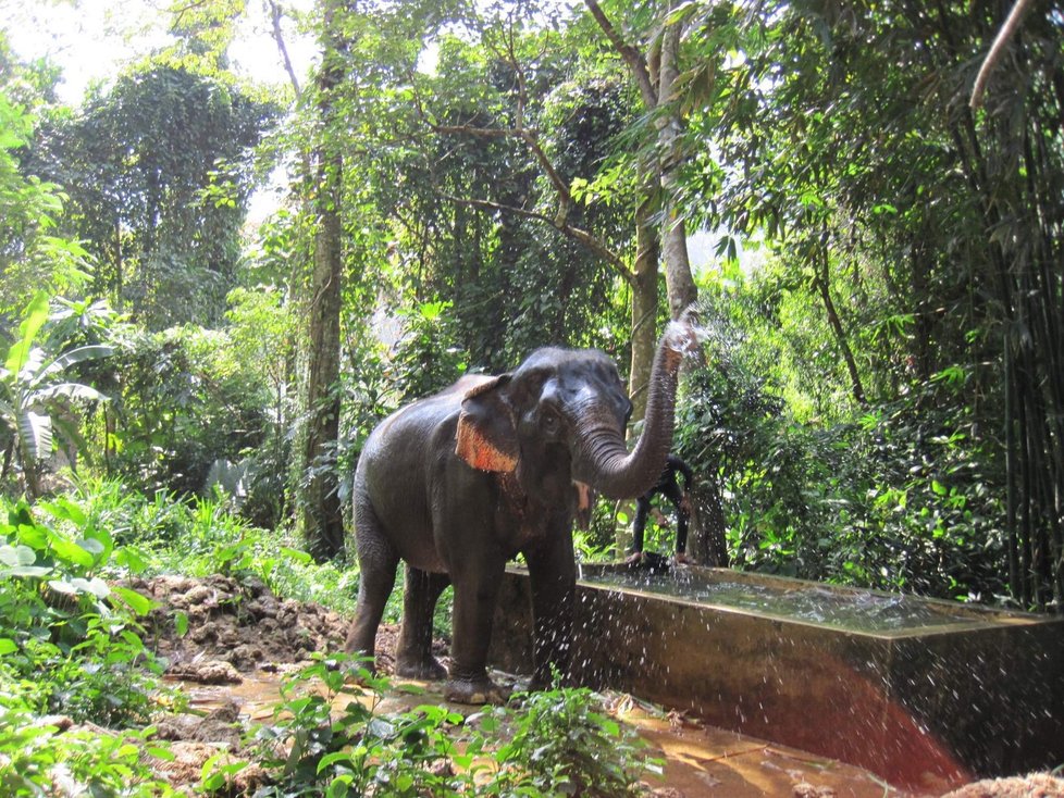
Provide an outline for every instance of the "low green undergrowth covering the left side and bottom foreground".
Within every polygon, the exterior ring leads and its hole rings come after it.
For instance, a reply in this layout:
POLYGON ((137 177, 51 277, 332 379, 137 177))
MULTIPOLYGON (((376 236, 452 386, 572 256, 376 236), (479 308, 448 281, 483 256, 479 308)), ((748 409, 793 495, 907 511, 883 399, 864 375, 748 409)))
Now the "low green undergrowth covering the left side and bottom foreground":
MULTIPOLYGON (((356 570, 313 563, 221 497, 146 498, 95 482, 36 504, 0 498, 0 795, 174 794, 141 755, 173 758, 150 723, 183 700, 144 644, 152 601, 124 584, 164 572, 255 575, 348 614, 357 585, 356 570)), ((448 625, 445 612, 436 623, 448 625)), ((256 795, 598 798, 636 795, 657 766, 587 690, 524 694, 469 718, 433 705, 382 712, 385 691, 344 657, 289 677, 274 721, 251 732, 267 774, 256 795), (350 699, 339 714, 337 697, 350 699)), ((216 758, 198 791, 232 795, 246 766, 216 758)))

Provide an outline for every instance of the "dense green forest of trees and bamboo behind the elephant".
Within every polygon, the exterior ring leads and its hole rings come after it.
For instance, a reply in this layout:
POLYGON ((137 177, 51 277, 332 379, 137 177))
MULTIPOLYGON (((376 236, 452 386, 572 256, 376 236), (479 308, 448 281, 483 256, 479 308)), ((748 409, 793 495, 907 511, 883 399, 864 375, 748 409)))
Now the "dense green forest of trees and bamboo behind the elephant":
POLYGON ((389 411, 545 344, 638 400, 694 303, 698 559, 1060 611, 1064 7, 973 101, 1011 5, 265 0, 268 85, 244 2, 163 3, 74 104, 9 28, 3 490, 221 490, 343 562, 389 411))

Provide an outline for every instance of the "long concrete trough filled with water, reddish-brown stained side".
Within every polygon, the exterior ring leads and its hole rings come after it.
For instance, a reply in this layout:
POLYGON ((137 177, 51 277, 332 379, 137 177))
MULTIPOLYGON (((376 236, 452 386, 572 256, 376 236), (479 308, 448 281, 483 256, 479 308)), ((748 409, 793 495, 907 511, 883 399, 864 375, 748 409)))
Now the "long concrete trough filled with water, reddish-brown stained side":
MULTIPOLYGON (((573 677, 906 789, 1064 763, 1064 619, 723 569, 584 564, 573 677)), ((532 662, 507 572, 493 663, 532 662)))

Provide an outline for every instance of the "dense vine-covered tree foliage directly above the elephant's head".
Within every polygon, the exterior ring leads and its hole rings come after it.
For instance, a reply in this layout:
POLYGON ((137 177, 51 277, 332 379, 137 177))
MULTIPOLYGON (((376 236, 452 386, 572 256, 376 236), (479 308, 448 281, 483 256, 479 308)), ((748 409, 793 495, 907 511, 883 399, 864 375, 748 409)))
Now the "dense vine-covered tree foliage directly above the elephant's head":
MULTIPOLYGON (((632 235, 619 191, 614 205, 559 209, 535 149, 567 190, 587 182, 616 146, 631 98, 601 72, 571 79, 557 30, 521 13, 509 22, 512 29, 485 14, 469 32, 440 36, 434 71, 417 74, 412 88, 421 117, 403 120, 419 146, 389 142, 404 179, 374 195, 401 220, 396 246, 417 264, 393 279, 419 303, 447 303, 457 344, 490 372, 547 344, 618 348, 627 320, 616 272, 555 223, 565 215, 618 250, 632 235)), ((405 76, 401 88, 410 91, 405 76)))

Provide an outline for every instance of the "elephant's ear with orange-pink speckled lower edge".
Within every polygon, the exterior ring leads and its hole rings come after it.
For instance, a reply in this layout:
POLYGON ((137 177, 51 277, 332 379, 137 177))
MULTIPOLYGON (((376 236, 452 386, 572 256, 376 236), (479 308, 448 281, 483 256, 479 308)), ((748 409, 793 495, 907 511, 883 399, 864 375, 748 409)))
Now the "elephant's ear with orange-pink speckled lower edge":
POLYGON ((505 392, 510 382, 504 374, 471 388, 458 416, 455 453, 480 471, 514 471, 517 467, 517 431, 505 392))

